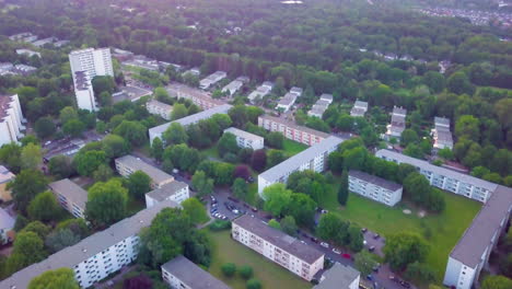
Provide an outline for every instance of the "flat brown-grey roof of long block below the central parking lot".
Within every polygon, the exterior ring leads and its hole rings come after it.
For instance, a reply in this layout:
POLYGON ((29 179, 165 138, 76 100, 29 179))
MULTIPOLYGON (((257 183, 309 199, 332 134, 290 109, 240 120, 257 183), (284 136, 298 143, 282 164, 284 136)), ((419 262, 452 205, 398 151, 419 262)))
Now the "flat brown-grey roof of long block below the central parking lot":
POLYGON ((282 231, 276 230, 249 215, 243 215, 242 217, 234 219, 233 223, 258 235, 268 243, 290 253, 291 255, 307 262, 309 264, 314 263, 324 255, 324 253, 317 248, 304 244, 300 240, 288 235, 282 231))

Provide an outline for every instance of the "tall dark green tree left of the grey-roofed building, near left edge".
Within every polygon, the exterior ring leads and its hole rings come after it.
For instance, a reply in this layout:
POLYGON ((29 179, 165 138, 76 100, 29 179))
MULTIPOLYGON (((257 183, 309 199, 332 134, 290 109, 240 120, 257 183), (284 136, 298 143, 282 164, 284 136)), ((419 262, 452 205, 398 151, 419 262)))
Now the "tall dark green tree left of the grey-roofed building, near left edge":
POLYGON ((9 184, 12 198, 16 208, 25 212, 31 200, 40 192, 46 189, 48 182, 40 171, 23 170, 9 184))

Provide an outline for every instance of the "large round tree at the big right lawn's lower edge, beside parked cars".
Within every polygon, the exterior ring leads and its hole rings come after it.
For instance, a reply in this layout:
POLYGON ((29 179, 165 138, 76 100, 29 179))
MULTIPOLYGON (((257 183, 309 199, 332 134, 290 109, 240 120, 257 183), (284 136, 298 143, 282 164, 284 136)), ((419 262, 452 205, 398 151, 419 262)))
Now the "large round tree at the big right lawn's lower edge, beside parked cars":
POLYGON ((383 248, 385 261, 394 270, 403 270, 411 263, 423 262, 429 251, 429 244, 421 236, 409 232, 387 236, 383 248))

